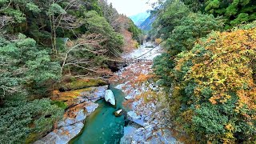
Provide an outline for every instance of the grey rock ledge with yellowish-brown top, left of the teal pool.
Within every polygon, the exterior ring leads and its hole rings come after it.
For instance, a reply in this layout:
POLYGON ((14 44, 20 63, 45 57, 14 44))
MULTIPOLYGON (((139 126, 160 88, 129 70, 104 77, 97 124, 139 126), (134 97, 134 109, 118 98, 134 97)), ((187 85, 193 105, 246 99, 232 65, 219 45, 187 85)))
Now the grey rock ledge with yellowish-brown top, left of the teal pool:
POLYGON ((52 97, 53 100, 64 101, 70 108, 66 110, 63 120, 58 122, 57 129, 34 143, 65 144, 70 142, 82 130, 86 116, 96 110, 98 104, 95 102, 100 98, 104 98, 107 87, 90 87, 55 94, 52 97))

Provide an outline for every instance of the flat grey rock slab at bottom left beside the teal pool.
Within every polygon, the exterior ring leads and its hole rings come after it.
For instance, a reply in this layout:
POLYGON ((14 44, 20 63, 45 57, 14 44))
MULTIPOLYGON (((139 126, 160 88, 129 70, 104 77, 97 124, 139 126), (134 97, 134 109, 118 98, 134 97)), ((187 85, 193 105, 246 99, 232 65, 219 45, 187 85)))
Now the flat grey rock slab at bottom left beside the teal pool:
POLYGON ((34 144, 66 144, 80 133, 83 123, 78 122, 71 126, 65 126, 47 134, 46 137, 34 142, 34 144))

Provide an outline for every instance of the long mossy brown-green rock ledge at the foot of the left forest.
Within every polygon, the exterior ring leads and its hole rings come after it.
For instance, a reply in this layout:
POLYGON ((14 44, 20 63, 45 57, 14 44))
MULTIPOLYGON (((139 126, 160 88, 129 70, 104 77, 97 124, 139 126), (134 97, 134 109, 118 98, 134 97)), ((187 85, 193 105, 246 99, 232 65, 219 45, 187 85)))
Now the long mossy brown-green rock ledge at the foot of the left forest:
POLYGON ((79 90, 93 86, 105 86, 107 82, 102 79, 77 79, 70 78, 70 82, 66 82, 60 86, 60 91, 79 90))

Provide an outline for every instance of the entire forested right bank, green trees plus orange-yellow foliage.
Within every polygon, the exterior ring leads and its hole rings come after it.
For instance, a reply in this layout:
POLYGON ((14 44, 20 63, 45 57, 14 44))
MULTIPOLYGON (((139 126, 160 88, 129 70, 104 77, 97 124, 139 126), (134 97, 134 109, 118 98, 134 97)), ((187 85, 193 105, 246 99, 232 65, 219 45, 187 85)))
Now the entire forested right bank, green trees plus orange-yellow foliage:
POLYGON ((159 1, 150 31, 165 52, 154 72, 185 143, 256 142, 256 3, 159 1))

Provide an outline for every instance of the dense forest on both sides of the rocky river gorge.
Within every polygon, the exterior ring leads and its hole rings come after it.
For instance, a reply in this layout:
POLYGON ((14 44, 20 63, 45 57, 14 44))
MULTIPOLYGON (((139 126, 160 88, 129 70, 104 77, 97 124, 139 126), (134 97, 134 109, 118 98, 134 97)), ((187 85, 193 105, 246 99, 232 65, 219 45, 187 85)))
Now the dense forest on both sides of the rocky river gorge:
MULTIPOLYGON (((151 77, 165 91, 174 136, 184 143, 255 143, 256 1, 152 6, 147 39, 163 52, 151 77)), ((54 90, 78 78, 108 78, 143 38, 105 0, 0 0, 0 143, 49 134, 68 107, 50 99, 54 90)))

